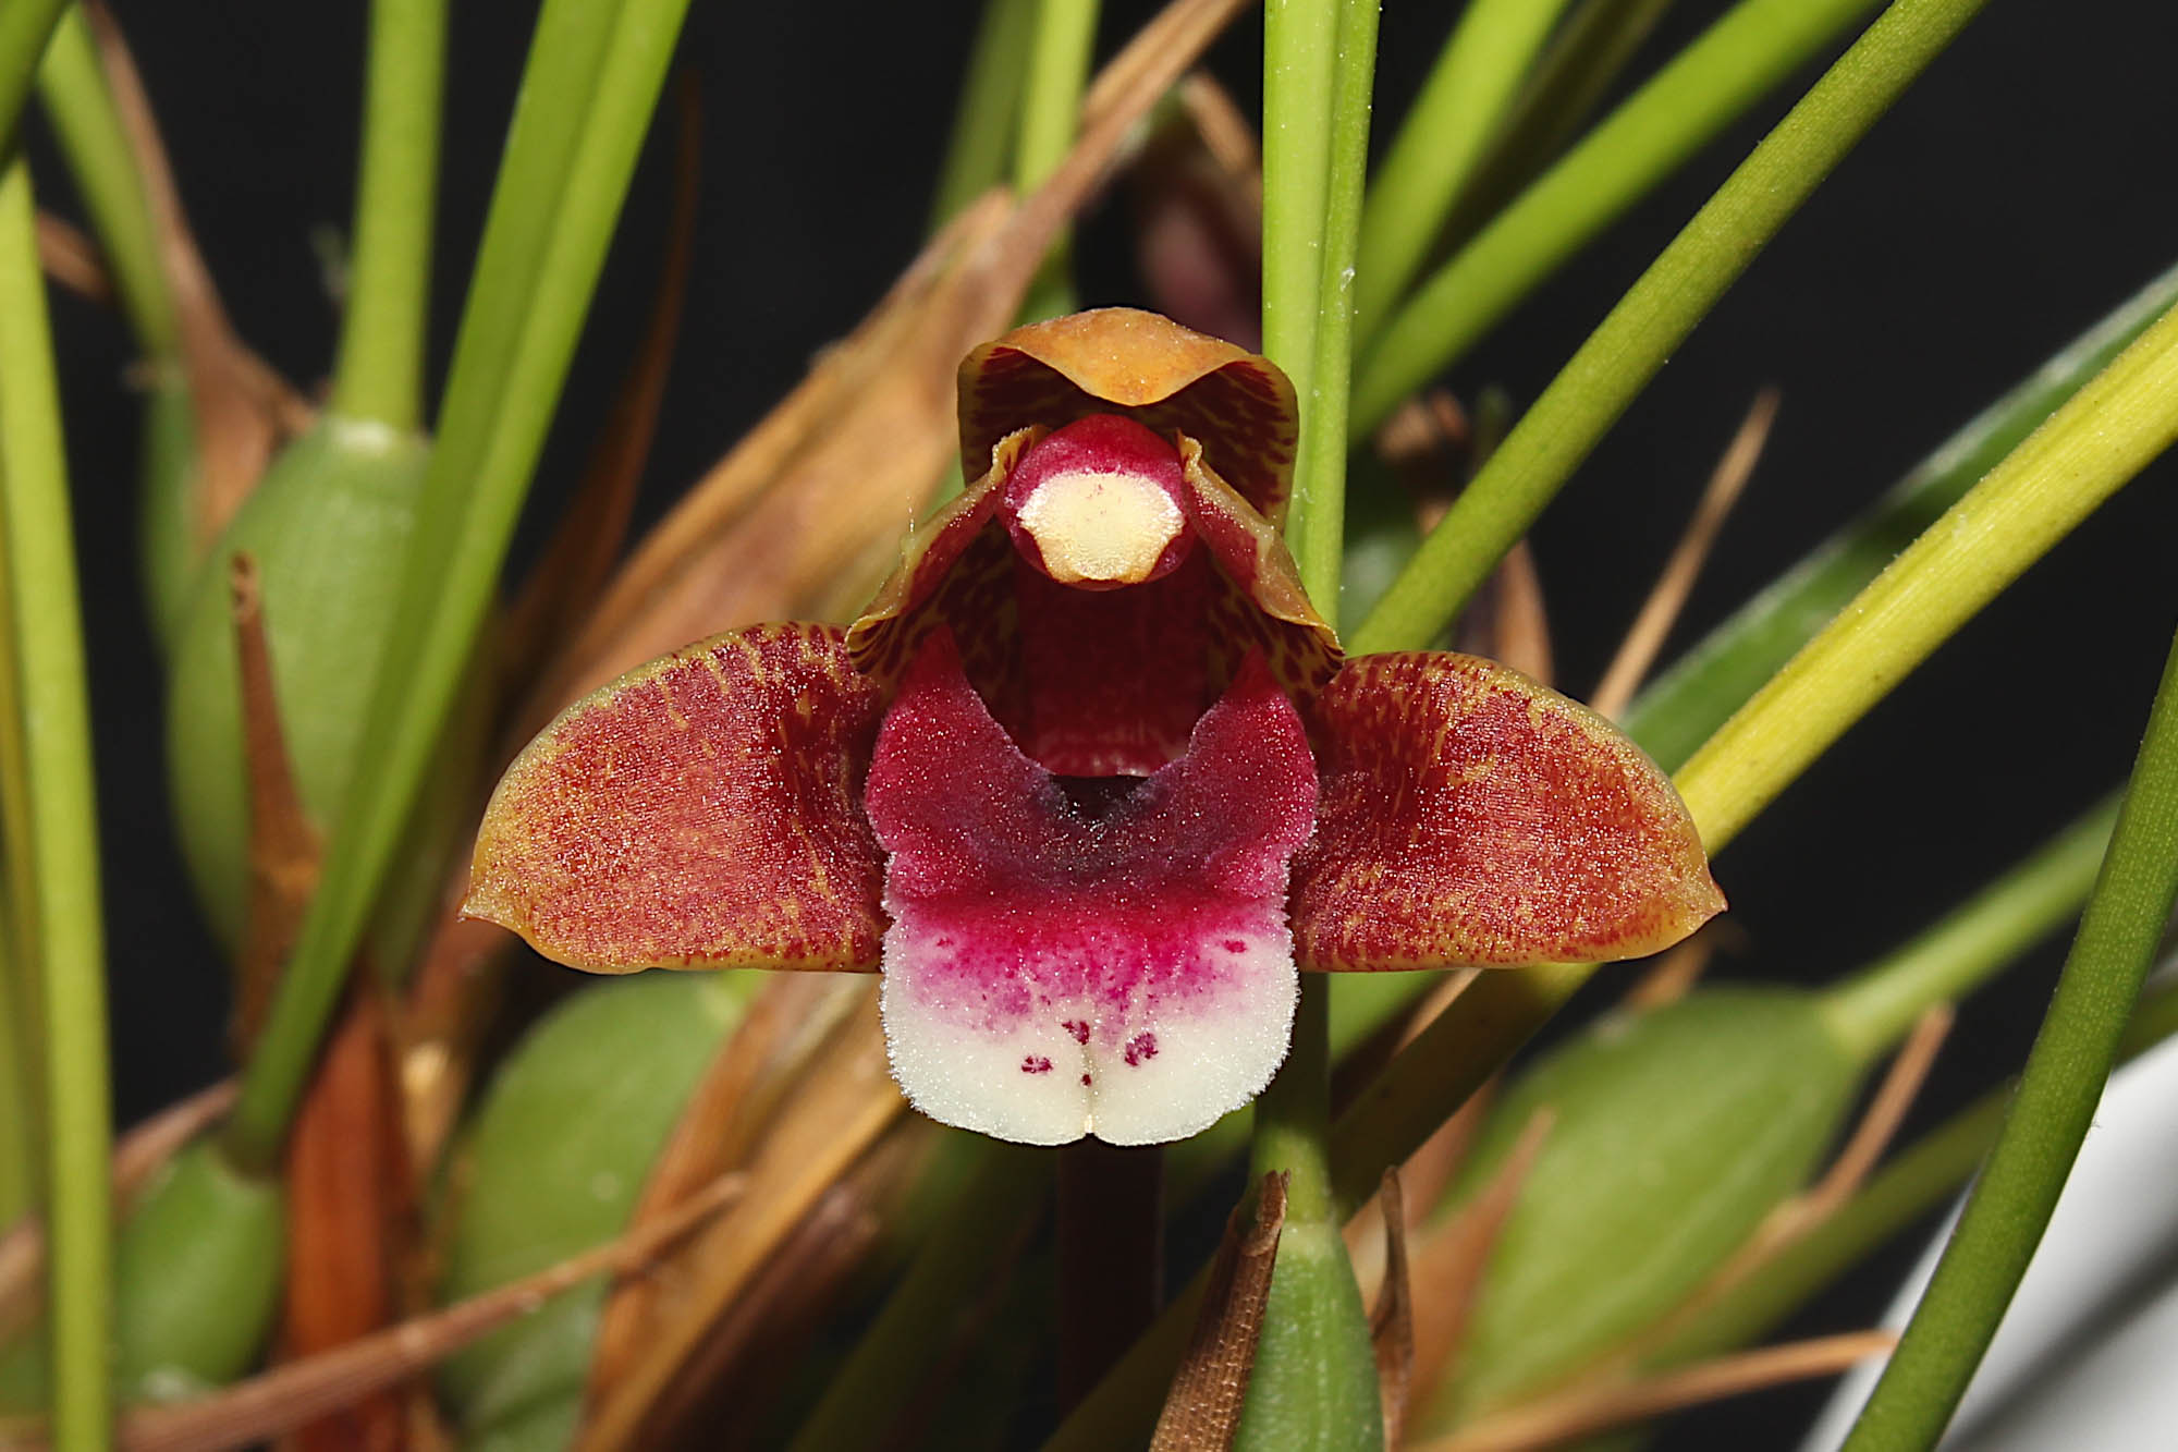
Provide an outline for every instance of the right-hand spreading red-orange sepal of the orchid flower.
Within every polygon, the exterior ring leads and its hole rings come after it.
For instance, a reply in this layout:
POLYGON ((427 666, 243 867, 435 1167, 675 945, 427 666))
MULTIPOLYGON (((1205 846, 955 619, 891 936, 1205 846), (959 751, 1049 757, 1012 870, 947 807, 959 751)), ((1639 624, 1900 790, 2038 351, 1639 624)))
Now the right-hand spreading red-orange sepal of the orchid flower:
POLYGON ((1603 961, 1725 907, 1671 781, 1492 661, 1348 661, 1316 704, 1322 804, 1294 861, 1307 968, 1603 961))

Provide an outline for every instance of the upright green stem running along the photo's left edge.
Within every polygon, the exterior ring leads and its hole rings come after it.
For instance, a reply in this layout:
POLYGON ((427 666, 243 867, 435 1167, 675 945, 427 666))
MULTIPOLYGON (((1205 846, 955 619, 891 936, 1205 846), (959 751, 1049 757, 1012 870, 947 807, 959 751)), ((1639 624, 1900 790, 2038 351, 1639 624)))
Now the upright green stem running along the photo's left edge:
POLYGON ((30 818, 28 842, 9 844, 30 859, 30 900, 13 907, 33 922, 46 1040, 52 1443, 72 1452, 111 1432, 105 940, 61 397, 20 155, 0 179, 0 536, 30 818))

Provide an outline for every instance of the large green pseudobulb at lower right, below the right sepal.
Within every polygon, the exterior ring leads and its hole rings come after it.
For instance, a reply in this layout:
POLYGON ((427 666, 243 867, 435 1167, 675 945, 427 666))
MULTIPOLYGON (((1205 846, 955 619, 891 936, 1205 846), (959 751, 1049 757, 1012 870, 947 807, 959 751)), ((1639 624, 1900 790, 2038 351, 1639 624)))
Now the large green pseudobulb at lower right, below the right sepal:
POLYGON ((1708 988, 1612 1014, 1518 1077, 1455 1201, 1490 1182, 1538 1110, 1555 1121, 1424 1426, 1579 1376, 1677 1308, 1808 1182, 1860 1079, 1819 1005, 1708 988))

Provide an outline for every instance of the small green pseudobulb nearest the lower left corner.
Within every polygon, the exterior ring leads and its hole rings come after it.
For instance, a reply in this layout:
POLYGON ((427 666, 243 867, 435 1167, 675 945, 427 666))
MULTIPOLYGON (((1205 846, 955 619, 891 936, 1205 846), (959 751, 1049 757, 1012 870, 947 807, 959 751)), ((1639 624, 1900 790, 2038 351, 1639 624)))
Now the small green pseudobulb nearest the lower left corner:
MULTIPOLYGON (((279 1182, 235 1173, 211 1140, 144 1188, 113 1251, 122 1402, 192 1397, 250 1367, 279 1308, 283 1214, 279 1182)), ((35 1411, 44 1382, 37 1323, 0 1356, 0 1411, 35 1411)))

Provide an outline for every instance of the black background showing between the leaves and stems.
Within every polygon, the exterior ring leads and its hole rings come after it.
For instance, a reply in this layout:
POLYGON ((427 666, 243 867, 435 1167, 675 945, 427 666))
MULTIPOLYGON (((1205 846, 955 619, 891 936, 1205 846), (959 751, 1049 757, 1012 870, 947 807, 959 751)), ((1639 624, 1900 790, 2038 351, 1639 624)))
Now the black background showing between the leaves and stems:
MULTIPOLYGON (((1102 52, 1152 7, 1113 2, 1102 52)), ((1679 4, 1634 74, 1725 7, 1679 4)), ((442 366, 534 7, 455 7, 436 275, 442 366)), ((1379 140, 1453 4, 1392 0, 1379 140)), ((122 4, 229 312, 283 373, 320 379, 335 310, 311 233, 351 207, 362 4, 122 4)), ((697 279, 643 521, 843 334, 919 242, 974 24, 969 4, 697 4, 703 87, 697 279)), ((1583 464, 1538 528, 1562 685, 1586 691, 1755 388, 1784 410, 1675 648, 1884 491, 1999 390, 2178 257, 2178 11, 1989 7, 1847 159, 1583 464)), ((1255 109, 1257 22, 1213 55, 1255 109)), ((1810 72, 1812 74, 1812 72, 1810 72)), ((1758 107, 1516 312, 1451 375, 1533 399, 1808 76, 1758 107)), ((664 168, 653 137, 547 453, 564 497, 640 327, 664 168)), ((39 148, 50 161, 50 150, 39 148)), ((41 168, 50 203, 65 181, 41 168)), ((1089 225, 1085 301, 1128 292, 1113 222, 1089 225)), ((222 1070, 222 970, 172 855, 159 674, 133 569, 137 406, 118 320, 57 303, 94 652, 118 1114, 222 1070)), ((1943 648, 1718 861, 1751 948, 1725 972, 1823 981, 1897 942, 2115 783, 2178 621, 2178 469, 2165 460, 1943 648)), ((538 532, 536 521, 525 530, 538 532)), ((1668 654, 1668 652, 1666 652, 1668 654)), ((1921 1105, 1930 1121, 2017 1066, 2049 948, 1975 1001, 1921 1105)), ((1616 981, 1614 981, 1616 983, 1616 981)), ((1893 1262, 1897 1256, 1893 1256, 1893 1262)), ((1895 1267, 1891 1267, 1895 1269, 1895 1267)), ((1882 1275, 1806 1328, 1873 1315, 1882 1275)), ((1779 1445, 1814 1393, 1705 1413, 1681 1445, 1779 1445)))

